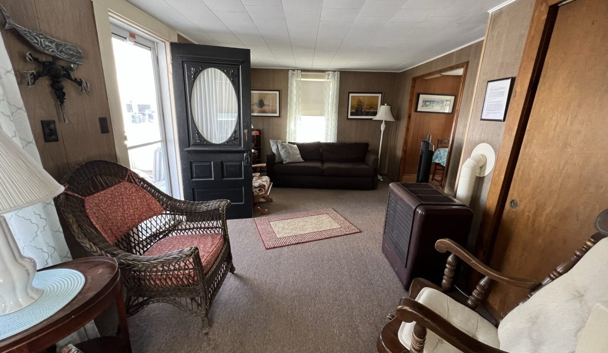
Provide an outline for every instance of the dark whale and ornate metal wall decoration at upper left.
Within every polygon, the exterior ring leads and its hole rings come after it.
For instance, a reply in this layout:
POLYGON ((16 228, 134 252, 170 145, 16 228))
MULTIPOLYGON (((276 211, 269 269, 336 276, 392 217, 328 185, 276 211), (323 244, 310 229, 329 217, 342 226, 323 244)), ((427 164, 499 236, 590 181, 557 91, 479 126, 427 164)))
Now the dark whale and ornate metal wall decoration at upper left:
POLYGON ((91 84, 80 78, 74 78, 71 74, 71 72, 76 70, 78 64, 85 63, 85 57, 82 54, 82 50, 74 44, 69 44, 51 38, 42 32, 19 26, 10 18, 2 5, 0 5, 0 12, 2 13, 2 16, 4 16, 4 21, 6 22, 4 29, 15 29, 38 51, 52 57, 50 61, 43 61, 34 57, 31 52, 26 53, 26 61, 28 63, 38 63, 42 66, 38 71, 28 70, 25 72, 27 87, 31 87, 39 78, 48 76, 50 78, 50 87, 53 89, 55 98, 57 98, 57 101, 59 102, 63 121, 67 123, 66 92, 64 91, 65 86, 63 85, 63 80, 72 81, 80 87, 81 92, 85 92, 87 95, 91 94, 91 84), (69 64, 69 66, 60 65, 57 63, 58 59, 68 61, 71 64, 69 64))

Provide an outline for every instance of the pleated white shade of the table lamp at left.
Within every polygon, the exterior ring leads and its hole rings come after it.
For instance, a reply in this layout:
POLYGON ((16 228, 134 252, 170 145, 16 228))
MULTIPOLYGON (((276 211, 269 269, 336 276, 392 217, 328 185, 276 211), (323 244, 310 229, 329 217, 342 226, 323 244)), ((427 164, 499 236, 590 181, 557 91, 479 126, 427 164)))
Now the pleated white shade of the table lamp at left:
POLYGON ((0 130, 0 214, 40 204, 61 192, 63 186, 0 130))

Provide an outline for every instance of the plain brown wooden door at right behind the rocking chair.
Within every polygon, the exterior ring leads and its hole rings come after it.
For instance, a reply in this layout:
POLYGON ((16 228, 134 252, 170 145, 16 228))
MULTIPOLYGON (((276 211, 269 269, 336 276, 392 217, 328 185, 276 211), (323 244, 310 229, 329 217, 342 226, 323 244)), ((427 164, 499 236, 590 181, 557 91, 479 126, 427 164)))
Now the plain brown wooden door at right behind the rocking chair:
MULTIPOLYGON (((547 276, 608 208, 606 18, 606 1, 559 7, 492 254, 510 275, 547 276)), ((497 285, 489 301, 505 314, 524 296, 497 285)))

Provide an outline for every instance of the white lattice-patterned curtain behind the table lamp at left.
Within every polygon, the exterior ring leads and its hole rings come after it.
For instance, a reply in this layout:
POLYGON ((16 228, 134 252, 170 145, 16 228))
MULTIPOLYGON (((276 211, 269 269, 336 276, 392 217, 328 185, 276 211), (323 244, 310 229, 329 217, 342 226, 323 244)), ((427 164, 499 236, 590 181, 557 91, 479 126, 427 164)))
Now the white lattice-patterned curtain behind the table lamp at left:
MULTIPOLYGON (((21 100, 15 73, 1 33, 0 129, 12 137, 13 141, 21 146, 34 160, 41 163, 40 154, 36 149, 32 129, 29 120, 27 120, 26 109, 21 100)), ((5 216, 21 252, 23 255, 35 259, 39 269, 72 259, 52 200, 5 216)), ((89 323, 77 332, 76 337, 72 336, 70 338, 71 341, 78 341, 97 336, 95 325, 89 323)))

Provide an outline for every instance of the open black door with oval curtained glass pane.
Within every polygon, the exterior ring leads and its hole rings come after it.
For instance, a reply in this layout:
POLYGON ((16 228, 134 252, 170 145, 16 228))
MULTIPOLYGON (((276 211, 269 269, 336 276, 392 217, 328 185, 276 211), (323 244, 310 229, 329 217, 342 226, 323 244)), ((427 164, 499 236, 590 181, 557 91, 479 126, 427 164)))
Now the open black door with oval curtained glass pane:
POLYGON ((171 59, 184 198, 252 217, 249 49, 171 43, 171 59))

